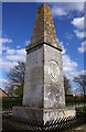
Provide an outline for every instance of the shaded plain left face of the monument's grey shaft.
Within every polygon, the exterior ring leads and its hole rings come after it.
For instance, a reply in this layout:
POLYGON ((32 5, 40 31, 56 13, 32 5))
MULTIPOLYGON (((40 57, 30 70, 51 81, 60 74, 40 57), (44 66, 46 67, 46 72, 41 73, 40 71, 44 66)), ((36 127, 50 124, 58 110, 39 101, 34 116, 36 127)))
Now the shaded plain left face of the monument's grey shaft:
POLYGON ((43 46, 26 55, 23 106, 43 107, 43 46))

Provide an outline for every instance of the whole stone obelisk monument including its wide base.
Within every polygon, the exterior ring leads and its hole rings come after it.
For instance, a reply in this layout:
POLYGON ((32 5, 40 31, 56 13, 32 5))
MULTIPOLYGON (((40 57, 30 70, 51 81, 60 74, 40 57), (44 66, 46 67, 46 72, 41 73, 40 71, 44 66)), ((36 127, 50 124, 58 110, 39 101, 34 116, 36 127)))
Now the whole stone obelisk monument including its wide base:
POLYGON ((57 43, 51 9, 42 4, 26 47, 23 105, 13 108, 13 116, 44 122, 75 116, 73 108, 65 107, 62 68, 62 47, 57 43))

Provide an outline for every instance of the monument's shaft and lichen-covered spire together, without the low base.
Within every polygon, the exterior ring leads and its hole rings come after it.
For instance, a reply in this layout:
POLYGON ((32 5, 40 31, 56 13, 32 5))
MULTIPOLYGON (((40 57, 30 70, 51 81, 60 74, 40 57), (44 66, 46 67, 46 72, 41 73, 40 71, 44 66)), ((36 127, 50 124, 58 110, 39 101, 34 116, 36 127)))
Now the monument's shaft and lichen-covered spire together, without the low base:
MULTIPOLYGON (((55 35, 51 9, 49 6, 42 4, 37 9, 31 44, 26 47, 24 106, 36 108, 60 108, 65 106, 61 51, 55 35), (61 70, 56 82, 52 81, 49 75, 49 63, 51 61, 54 64, 56 62, 61 70)), ((55 69, 52 70, 55 72, 55 69)))

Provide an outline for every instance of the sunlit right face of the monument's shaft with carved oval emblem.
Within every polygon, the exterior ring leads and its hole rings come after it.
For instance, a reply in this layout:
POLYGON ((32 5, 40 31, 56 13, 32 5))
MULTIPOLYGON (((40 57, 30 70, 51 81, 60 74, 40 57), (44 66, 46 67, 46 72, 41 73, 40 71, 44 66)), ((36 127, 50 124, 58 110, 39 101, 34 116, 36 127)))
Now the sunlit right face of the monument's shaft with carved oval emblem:
POLYGON ((65 92, 61 52, 44 44, 44 108, 64 106, 65 92), (56 68, 58 69, 56 70, 56 68))

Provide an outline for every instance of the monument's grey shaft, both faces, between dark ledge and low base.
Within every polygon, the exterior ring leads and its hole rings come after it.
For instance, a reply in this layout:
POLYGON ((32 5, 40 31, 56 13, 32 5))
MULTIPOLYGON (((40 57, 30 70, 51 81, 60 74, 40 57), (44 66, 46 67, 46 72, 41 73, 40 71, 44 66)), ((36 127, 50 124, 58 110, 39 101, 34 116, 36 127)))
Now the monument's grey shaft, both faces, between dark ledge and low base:
POLYGON ((65 106, 62 57, 56 48, 43 44, 26 55, 23 106, 41 108, 65 106), (50 65, 55 64, 55 68, 50 69, 50 65))

